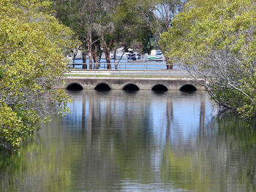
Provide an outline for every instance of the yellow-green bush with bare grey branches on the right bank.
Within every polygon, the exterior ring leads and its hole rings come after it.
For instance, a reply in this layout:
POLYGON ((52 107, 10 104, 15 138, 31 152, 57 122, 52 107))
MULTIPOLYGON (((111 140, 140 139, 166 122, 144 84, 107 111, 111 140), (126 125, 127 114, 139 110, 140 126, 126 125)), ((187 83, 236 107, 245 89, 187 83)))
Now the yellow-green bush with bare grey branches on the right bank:
POLYGON ((251 0, 190 1, 161 37, 218 104, 247 119, 256 114, 255 10, 251 0))

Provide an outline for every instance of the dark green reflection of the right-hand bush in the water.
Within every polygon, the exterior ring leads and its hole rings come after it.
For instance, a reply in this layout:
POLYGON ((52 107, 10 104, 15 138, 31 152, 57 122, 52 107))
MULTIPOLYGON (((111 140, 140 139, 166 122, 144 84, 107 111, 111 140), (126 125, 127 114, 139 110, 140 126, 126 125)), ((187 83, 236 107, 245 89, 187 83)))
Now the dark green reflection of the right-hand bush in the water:
POLYGON ((230 172, 233 180, 246 186, 246 191, 256 191, 256 121, 248 125, 232 113, 226 112, 215 118, 212 123, 219 127, 216 147, 227 149, 225 158, 220 158, 219 155, 218 159, 227 166, 226 170, 230 172), (219 139, 225 142, 219 142, 219 139))

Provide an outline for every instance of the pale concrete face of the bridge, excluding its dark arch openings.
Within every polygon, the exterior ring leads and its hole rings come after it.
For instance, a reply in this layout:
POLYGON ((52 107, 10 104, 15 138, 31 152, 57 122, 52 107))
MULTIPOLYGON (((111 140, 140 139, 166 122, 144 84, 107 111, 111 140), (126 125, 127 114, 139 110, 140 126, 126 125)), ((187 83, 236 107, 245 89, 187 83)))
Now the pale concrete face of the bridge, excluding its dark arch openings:
POLYGON ((205 90, 194 79, 181 78, 124 78, 124 77, 64 77, 64 85, 57 85, 56 88, 66 89, 69 85, 78 84, 83 89, 94 89, 102 83, 109 85, 113 90, 124 89, 126 85, 137 85, 140 90, 151 90, 155 85, 164 85, 167 90, 178 91, 184 85, 192 85, 196 90, 205 90))

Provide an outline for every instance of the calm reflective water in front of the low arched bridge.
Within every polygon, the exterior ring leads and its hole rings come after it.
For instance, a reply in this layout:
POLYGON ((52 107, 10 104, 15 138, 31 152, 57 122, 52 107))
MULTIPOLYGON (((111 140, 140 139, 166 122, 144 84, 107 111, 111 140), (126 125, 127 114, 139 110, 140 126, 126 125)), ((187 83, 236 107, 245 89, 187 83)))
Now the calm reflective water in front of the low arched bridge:
POLYGON ((206 92, 78 91, 15 153, 0 191, 256 191, 256 131, 206 92))

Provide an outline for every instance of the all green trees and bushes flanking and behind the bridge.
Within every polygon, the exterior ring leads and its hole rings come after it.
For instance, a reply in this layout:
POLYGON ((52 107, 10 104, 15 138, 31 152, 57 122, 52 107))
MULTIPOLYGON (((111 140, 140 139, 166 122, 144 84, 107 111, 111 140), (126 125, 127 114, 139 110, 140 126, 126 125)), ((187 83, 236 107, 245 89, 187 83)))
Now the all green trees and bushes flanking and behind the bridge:
POLYGON ((90 64, 105 52, 111 69, 110 52, 116 61, 119 47, 141 54, 157 48, 166 69, 184 64, 207 80, 201 85, 217 104, 252 120, 255 23, 253 0, 1 0, 0 146, 17 149, 56 104, 60 115, 69 112, 67 94, 52 88, 67 73, 65 56, 78 50, 90 64))

